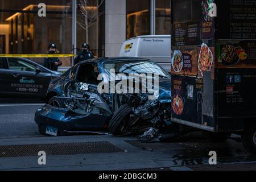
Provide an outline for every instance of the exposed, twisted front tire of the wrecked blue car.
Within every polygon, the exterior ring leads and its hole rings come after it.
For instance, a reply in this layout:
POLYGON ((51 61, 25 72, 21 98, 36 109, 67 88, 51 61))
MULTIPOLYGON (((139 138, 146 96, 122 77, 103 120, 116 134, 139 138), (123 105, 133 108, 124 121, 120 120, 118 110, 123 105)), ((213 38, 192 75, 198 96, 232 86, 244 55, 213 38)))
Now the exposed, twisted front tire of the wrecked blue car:
POLYGON ((132 107, 128 104, 124 104, 115 113, 113 114, 112 119, 109 122, 109 131, 113 135, 122 135, 125 134, 121 131, 123 122, 129 114, 131 113, 132 107))

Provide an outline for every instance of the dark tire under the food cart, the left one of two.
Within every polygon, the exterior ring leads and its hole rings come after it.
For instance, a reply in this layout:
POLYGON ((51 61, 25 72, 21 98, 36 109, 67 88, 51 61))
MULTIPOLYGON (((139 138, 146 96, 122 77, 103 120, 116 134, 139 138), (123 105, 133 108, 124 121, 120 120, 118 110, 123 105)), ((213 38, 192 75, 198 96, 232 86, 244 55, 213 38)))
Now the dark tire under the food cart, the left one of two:
POLYGON ((203 134, 209 142, 225 142, 231 135, 231 133, 213 133, 210 131, 203 131, 203 134))

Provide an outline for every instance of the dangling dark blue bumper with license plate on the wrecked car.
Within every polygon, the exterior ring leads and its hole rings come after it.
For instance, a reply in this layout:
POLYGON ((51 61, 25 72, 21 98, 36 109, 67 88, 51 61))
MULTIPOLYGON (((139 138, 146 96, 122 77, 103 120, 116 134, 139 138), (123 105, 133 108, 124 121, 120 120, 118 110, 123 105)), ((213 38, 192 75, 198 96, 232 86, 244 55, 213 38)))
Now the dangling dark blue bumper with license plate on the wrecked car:
POLYGON ((79 115, 70 109, 61 109, 51 105, 44 105, 36 110, 35 122, 39 126, 40 133, 55 136, 67 133, 108 130, 108 117, 104 115, 92 113, 79 115), (85 120, 87 122, 84 122, 85 120), (48 132, 51 129, 54 131, 53 133, 48 132))

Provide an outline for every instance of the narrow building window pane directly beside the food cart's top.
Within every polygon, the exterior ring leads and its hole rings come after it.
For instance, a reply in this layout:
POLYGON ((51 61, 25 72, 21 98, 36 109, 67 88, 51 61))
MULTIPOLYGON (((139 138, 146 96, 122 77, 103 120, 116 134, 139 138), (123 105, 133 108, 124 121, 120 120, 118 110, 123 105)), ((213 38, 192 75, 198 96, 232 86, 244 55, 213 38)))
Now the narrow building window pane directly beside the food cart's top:
POLYGON ((171 34, 171 8, 170 0, 155 1, 155 34, 171 34))

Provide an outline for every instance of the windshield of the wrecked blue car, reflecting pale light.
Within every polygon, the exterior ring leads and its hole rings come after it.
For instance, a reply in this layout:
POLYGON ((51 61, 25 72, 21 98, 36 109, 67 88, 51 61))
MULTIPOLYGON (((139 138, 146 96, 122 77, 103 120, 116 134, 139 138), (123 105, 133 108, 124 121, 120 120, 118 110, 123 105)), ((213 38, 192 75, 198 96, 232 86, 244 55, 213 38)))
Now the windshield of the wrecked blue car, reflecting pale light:
POLYGON ((115 73, 125 74, 141 74, 152 73, 157 74, 159 77, 170 78, 169 73, 164 71, 158 64, 151 61, 136 60, 136 61, 110 61, 104 63, 105 72, 110 75, 110 70, 114 69, 115 73))

